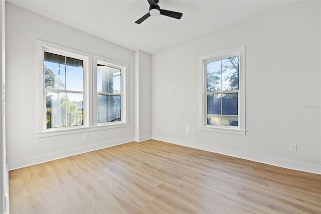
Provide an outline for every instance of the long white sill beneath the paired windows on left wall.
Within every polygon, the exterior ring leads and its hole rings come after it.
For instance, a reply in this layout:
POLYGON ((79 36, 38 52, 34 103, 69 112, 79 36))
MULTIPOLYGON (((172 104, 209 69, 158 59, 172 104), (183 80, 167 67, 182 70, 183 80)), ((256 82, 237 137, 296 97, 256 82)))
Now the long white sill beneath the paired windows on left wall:
POLYGON ((129 126, 128 123, 122 123, 122 124, 100 125, 95 127, 80 127, 80 128, 70 128, 70 129, 64 129, 64 130, 43 131, 43 132, 37 133, 37 138, 44 138, 44 137, 51 137, 51 136, 58 136, 58 135, 69 135, 69 134, 75 134, 75 133, 114 129, 114 128, 121 128, 121 127, 128 127, 128 126, 129 126))

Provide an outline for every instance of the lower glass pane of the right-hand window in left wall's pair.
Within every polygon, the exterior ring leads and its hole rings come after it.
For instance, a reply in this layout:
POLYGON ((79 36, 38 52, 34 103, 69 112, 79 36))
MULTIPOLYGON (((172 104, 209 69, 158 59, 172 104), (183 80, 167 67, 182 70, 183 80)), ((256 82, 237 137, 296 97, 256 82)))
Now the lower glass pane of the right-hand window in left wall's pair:
POLYGON ((113 95, 98 95, 98 123, 120 121, 121 97, 113 95))

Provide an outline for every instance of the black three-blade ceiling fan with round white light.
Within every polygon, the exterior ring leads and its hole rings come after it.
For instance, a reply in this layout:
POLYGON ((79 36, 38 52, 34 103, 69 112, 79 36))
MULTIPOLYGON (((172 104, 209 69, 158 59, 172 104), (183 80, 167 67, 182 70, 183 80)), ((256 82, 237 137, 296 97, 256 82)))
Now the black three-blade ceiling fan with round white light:
POLYGON ((175 19, 181 19, 182 17, 182 13, 178 13, 178 12, 174 12, 174 11, 167 11, 167 10, 163 10, 158 6, 159 0, 147 0, 148 4, 149 4, 149 13, 147 13, 146 15, 144 15, 143 17, 141 17, 140 19, 138 19, 135 23, 140 24, 142 23, 145 19, 147 19, 150 16, 158 16, 160 15, 164 15, 164 16, 168 16, 168 17, 172 17, 175 19))

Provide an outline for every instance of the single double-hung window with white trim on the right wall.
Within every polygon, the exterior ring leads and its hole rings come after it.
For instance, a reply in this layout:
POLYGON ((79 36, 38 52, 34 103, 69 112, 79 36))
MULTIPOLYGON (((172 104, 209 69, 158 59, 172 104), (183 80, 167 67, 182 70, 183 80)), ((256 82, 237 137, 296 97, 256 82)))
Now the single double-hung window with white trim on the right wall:
POLYGON ((245 46, 200 57, 200 129, 245 133, 245 46))

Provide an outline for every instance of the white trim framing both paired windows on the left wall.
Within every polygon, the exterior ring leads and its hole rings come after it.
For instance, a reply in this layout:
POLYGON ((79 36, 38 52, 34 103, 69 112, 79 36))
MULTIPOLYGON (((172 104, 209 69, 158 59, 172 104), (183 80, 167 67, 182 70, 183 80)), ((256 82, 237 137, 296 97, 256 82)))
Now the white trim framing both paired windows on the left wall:
MULTIPOLYGON (((95 59, 101 59, 102 61, 106 60, 102 57, 94 56, 95 59)), ((124 87, 124 95, 122 97, 122 101, 125 103, 122 106, 122 114, 124 117, 124 121, 121 123, 112 123, 108 125, 98 126, 96 121, 94 120, 97 118, 95 113, 97 114, 96 105, 94 103, 94 75, 90 75, 92 71, 95 69, 95 65, 93 65, 93 55, 89 53, 85 53, 82 51, 74 50, 71 48, 66 48, 60 45, 52 44, 49 42, 45 42, 42 40, 37 40, 36 44, 36 99, 37 99, 37 105, 36 105, 36 122, 37 122, 37 128, 36 128, 36 135, 38 138, 41 137, 50 137, 50 136, 57 136, 57 135, 66 135, 66 134, 74 134, 74 133, 82 133, 82 132, 89 132, 89 131, 96 131, 96 130, 104 130, 104 129, 113 129, 113 128, 121 128, 121 127, 128 127, 128 116, 127 116, 127 110, 128 110, 128 103, 126 102, 126 70, 127 70, 127 64, 116 62, 113 60, 108 60, 111 64, 114 63, 116 65, 121 65, 125 67, 124 71, 124 77, 123 78, 123 86, 124 87), (44 51, 50 50, 56 53, 67 53, 69 55, 77 56, 78 58, 85 58, 88 63, 85 64, 84 61, 84 125, 83 126, 75 126, 75 127, 63 127, 63 128, 53 128, 53 129, 46 129, 46 120, 45 120, 45 107, 44 103, 44 74, 43 74, 43 65, 44 65, 44 51), (124 109, 123 109, 124 108, 124 109)), ((95 83, 96 84, 96 83, 95 83)), ((97 88, 97 87, 96 87, 97 88)), ((96 89, 97 90, 97 89, 96 89)))

